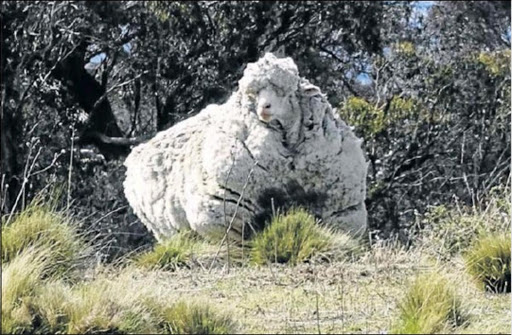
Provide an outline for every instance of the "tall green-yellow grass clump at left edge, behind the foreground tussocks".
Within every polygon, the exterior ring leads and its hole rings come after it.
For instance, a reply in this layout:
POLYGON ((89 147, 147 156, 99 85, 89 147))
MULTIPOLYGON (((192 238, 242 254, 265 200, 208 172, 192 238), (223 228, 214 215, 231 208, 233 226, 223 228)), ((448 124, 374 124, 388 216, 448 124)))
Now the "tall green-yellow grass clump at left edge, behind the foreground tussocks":
POLYGON ((14 220, 2 225, 2 263, 9 262, 26 248, 50 248, 53 274, 69 271, 85 250, 70 219, 51 205, 35 201, 14 220))

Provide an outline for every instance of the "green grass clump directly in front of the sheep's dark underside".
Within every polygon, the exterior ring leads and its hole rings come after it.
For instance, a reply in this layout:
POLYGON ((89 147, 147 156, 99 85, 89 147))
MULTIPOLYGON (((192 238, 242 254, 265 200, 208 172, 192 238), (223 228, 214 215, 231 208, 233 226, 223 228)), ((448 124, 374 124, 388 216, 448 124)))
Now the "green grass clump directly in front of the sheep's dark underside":
POLYGON ((279 214, 251 243, 251 260, 256 264, 290 263, 309 260, 329 249, 332 234, 317 224, 302 208, 279 214))

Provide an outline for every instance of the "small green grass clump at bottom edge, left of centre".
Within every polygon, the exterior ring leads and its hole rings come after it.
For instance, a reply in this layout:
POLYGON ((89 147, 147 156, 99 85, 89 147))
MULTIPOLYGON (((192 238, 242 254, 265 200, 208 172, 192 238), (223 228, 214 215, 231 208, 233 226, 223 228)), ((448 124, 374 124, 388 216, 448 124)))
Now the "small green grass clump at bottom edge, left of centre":
POLYGON ((211 306, 178 302, 161 308, 160 327, 167 334, 234 334, 236 325, 211 306))

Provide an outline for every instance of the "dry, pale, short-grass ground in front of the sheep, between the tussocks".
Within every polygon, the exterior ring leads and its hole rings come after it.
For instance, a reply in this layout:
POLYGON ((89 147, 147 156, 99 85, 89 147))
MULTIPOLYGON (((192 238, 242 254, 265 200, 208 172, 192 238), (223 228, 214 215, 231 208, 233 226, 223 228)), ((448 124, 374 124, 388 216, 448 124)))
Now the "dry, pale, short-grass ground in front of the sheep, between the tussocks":
MULTIPOLYGON (((452 333, 510 333, 510 294, 480 290, 461 257, 448 263, 418 249, 374 246, 356 260, 334 263, 227 266, 139 272, 176 298, 199 300, 231 315, 242 333, 389 333, 411 279, 440 272, 457 283, 468 312, 452 333)), ((152 285, 153 285, 152 284, 152 285)), ((149 285, 149 283, 148 283, 149 285)))

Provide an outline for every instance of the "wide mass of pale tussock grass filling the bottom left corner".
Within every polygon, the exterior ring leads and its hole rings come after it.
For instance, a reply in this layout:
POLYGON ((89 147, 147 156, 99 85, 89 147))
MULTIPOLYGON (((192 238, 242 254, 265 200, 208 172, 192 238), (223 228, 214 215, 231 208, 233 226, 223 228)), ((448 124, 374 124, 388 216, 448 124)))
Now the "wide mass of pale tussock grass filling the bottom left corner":
POLYGON ((75 285, 62 280, 30 290, 23 285, 15 308, 2 306, 2 333, 231 334, 237 329, 208 303, 180 301, 146 275, 128 267, 75 285))

